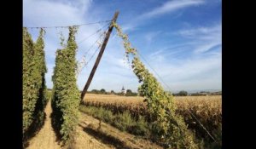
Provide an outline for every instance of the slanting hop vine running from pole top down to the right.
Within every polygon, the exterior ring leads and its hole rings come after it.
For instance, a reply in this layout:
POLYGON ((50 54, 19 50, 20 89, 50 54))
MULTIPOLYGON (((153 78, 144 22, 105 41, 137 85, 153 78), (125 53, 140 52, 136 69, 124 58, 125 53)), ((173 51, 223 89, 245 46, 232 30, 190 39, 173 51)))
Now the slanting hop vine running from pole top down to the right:
POLYGON ((152 138, 168 148, 198 148, 195 136, 189 131, 183 121, 183 117, 176 114, 176 105, 173 96, 162 88, 157 79, 148 72, 142 61, 137 56, 137 49, 131 47, 128 36, 124 34, 120 26, 113 23, 119 37, 123 39, 125 55, 130 62, 133 72, 142 85, 138 88, 144 96, 152 122, 152 138))

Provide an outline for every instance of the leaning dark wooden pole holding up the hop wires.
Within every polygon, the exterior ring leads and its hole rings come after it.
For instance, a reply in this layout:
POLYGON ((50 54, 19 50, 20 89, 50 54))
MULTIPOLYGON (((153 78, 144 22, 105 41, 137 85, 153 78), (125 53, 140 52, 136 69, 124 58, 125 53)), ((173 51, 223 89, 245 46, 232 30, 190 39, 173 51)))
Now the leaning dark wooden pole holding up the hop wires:
MULTIPOLYGON (((114 13, 114 15, 113 15, 112 23, 113 23, 113 22, 114 22, 114 23, 116 22, 118 16, 119 16, 119 11, 116 11, 116 12, 114 13)), ((106 48, 106 46, 107 46, 108 38, 110 37, 110 34, 111 34, 112 30, 113 30, 113 26, 111 26, 112 23, 110 24, 110 26, 108 26, 108 32, 107 32, 107 34, 106 34, 106 37, 105 37, 105 39, 104 39, 104 42, 102 43, 102 48, 101 48, 101 50, 100 50, 100 52, 99 52, 99 54, 98 54, 98 56, 97 56, 96 62, 95 62, 94 66, 93 66, 93 68, 92 68, 92 70, 91 70, 91 72, 90 72, 90 76, 88 77, 87 83, 85 84, 84 89, 83 89, 83 91, 82 91, 82 94, 81 94, 81 101, 84 100, 84 95, 86 94, 87 89, 88 89, 89 86, 90 86, 91 80, 92 80, 92 78, 93 78, 93 76, 94 76, 94 74, 95 74, 95 72, 96 72, 96 69, 97 69, 97 66, 98 66, 99 63, 100 63, 100 60, 102 59, 102 54, 103 54, 103 52, 104 52, 104 50, 105 50, 105 48, 106 48)))

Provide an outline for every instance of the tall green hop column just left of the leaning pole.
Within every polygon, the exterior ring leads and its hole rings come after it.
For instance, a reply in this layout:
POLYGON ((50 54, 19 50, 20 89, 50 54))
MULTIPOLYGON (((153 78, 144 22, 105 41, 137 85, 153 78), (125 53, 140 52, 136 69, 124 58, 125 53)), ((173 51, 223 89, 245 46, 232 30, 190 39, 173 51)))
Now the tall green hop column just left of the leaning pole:
POLYGON ((60 132, 65 144, 73 141, 79 121, 80 92, 76 84, 77 62, 75 59, 76 27, 69 27, 67 47, 56 51, 55 69, 52 77, 54 88, 52 97, 53 124, 60 132))

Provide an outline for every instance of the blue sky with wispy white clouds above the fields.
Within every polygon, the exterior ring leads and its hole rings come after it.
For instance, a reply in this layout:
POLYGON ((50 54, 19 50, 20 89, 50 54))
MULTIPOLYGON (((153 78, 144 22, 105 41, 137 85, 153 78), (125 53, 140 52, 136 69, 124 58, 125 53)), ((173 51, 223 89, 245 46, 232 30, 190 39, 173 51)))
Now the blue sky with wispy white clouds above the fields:
MULTIPOLYGON (((220 0, 24 0, 23 26, 72 26, 99 22, 111 20, 114 12, 119 10, 117 23, 128 34, 131 45, 143 56, 141 60, 164 89, 171 92, 221 90, 221 7, 220 0)), ((76 58, 79 64, 83 64, 80 63, 83 57, 88 62, 77 77, 80 90, 84 88, 99 51, 96 50, 99 46, 96 41, 107 29, 108 22, 79 26, 76 58), (96 32, 99 29, 101 32, 96 32)), ((68 29, 48 28, 45 31, 44 51, 48 69, 45 77, 47 87, 51 89, 55 51, 63 49, 61 32, 67 39, 68 29)), ((28 29, 28 32, 36 41, 39 30, 28 29)), ((125 60, 122 40, 113 29, 89 90, 119 92, 124 86, 137 92, 139 85, 131 65, 125 60)))

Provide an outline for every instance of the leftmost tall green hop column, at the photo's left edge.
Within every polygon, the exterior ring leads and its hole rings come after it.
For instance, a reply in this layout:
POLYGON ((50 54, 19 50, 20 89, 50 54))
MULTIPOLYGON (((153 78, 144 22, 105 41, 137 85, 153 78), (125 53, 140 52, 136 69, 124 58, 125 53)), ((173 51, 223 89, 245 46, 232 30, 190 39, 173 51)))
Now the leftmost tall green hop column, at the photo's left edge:
POLYGON ((44 74, 47 72, 44 60, 44 30, 36 43, 23 28, 23 136, 33 133, 44 123, 44 107, 46 105, 46 86, 44 74))

